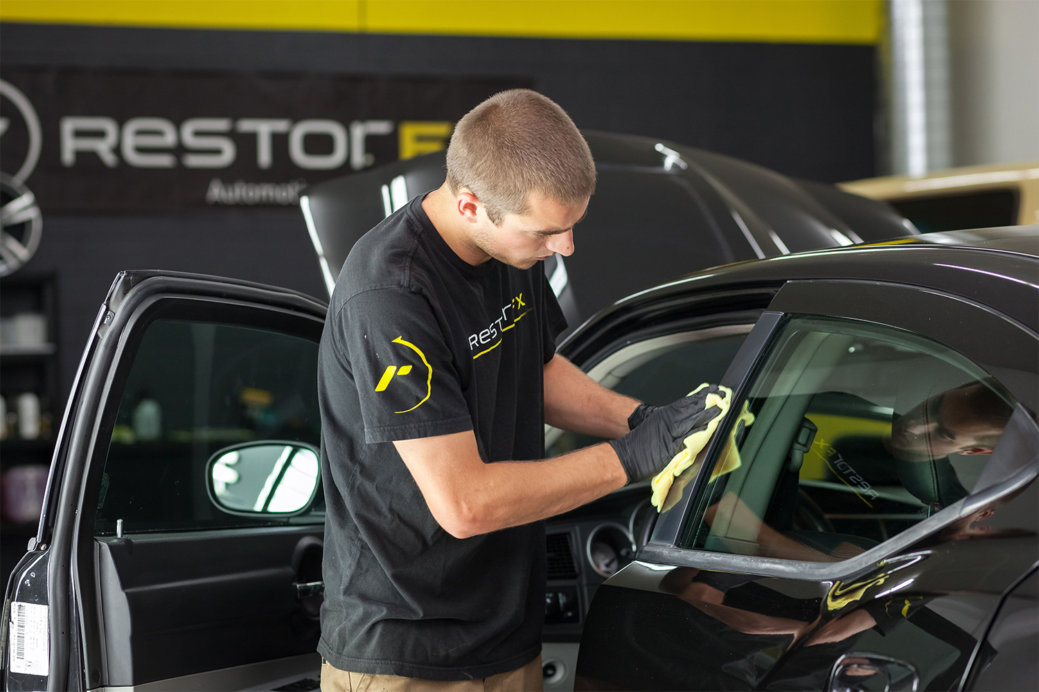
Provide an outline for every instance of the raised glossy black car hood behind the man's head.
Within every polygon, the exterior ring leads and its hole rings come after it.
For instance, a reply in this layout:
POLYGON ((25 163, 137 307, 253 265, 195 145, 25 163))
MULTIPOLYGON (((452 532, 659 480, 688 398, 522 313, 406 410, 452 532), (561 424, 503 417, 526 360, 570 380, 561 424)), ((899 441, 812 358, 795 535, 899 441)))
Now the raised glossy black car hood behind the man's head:
MULTIPOLYGON (((674 142, 582 134, 595 194, 576 252, 545 261, 570 331, 624 296, 698 269, 917 233, 887 203, 832 185, 674 142)), ((438 151, 304 190, 300 205, 329 293, 357 239, 443 185, 445 165, 438 151)))

